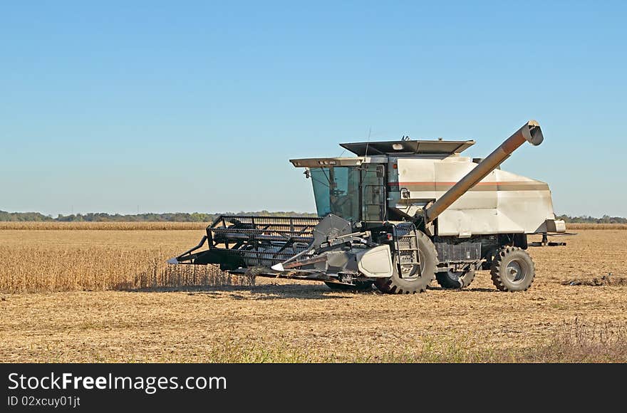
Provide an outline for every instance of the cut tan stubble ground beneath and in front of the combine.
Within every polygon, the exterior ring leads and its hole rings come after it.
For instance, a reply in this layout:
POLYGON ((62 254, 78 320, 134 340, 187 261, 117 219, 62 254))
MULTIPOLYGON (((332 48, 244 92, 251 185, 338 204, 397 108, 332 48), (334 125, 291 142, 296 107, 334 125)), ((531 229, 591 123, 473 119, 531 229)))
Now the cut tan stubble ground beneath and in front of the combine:
MULTIPOLYGON (((106 236, 137 242, 118 232, 106 236)), ((146 242, 167 245, 153 232, 146 242)), ((567 246, 530 249, 537 275, 524 293, 498 292, 487 271, 462 291, 434 283, 410 296, 268 278, 187 291, 4 293, 0 361, 525 361, 572 326, 603 335, 627 325, 627 231, 578 232, 567 246)), ((199 238, 171 234, 187 246, 199 238)))

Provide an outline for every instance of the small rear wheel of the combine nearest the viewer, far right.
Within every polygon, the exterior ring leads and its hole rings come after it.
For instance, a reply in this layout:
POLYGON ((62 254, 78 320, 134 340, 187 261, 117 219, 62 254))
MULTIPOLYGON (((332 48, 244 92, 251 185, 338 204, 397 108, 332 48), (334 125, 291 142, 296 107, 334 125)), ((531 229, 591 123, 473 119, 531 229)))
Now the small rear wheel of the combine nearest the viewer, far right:
POLYGON ((536 270, 527 251, 508 246, 492 260, 490 275, 500 291, 526 291, 534 282, 536 270))

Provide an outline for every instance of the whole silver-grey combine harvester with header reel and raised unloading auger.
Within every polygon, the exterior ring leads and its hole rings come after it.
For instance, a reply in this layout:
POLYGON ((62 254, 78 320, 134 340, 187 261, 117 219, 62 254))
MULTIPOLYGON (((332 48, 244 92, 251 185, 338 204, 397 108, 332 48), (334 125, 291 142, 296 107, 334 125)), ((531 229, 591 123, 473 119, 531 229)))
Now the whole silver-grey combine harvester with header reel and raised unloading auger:
POLYGON ((460 156, 473 140, 345 143, 356 157, 290 160, 311 178, 318 218, 222 215, 168 262, 397 294, 425 291, 434 279, 467 287, 489 269, 500 291, 525 291, 535 275, 525 250, 564 245, 547 236, 566 226, 547 184, 499 165, 543 139, 530 120, 484 160, 460 156), (542 241, 529 243, 529 234, 542 241))

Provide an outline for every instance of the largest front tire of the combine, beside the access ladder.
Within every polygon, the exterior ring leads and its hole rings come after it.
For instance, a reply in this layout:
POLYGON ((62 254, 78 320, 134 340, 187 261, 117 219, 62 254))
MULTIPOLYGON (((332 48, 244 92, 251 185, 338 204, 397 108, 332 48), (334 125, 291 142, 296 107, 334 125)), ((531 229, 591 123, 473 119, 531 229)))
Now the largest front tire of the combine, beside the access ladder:
POLYGON ((401 265, 399 274, 398 265, 395 262, 390 278, 380 278, 375 281, 375 286, 382 293, 422 293, 435 279, 435 266, 437 266, 435 245, 422 231, 415 230, 415 234, 418 239, 420 265, 401 265))

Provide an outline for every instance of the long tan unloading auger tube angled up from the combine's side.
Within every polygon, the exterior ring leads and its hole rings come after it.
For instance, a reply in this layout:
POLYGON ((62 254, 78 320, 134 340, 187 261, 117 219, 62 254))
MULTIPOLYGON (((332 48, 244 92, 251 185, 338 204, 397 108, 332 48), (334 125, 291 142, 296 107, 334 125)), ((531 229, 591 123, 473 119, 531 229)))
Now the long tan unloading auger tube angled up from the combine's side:
POLYGON ((465 194, 468 189, 474 187, 481 179, 487 177, 499 164, 502 164, 509 155, 512 155, 514 150, 517 150, 520 145, 527 140, 534 146, 540 145, 544 140, 540 125, 535 120, 529 120, 519 130, 514 132, 514 135, 510 136, 497 147, 494 152, 488 155, 477 166, 468 172, 465 177, 460 179, 457 184, 453 185, 451 189, 445 192, 442 197, 438 198, 431 206, 425 211, 425 217, 427 223, 433 221, 438 215, 442 214, 451 204, 465 194))

